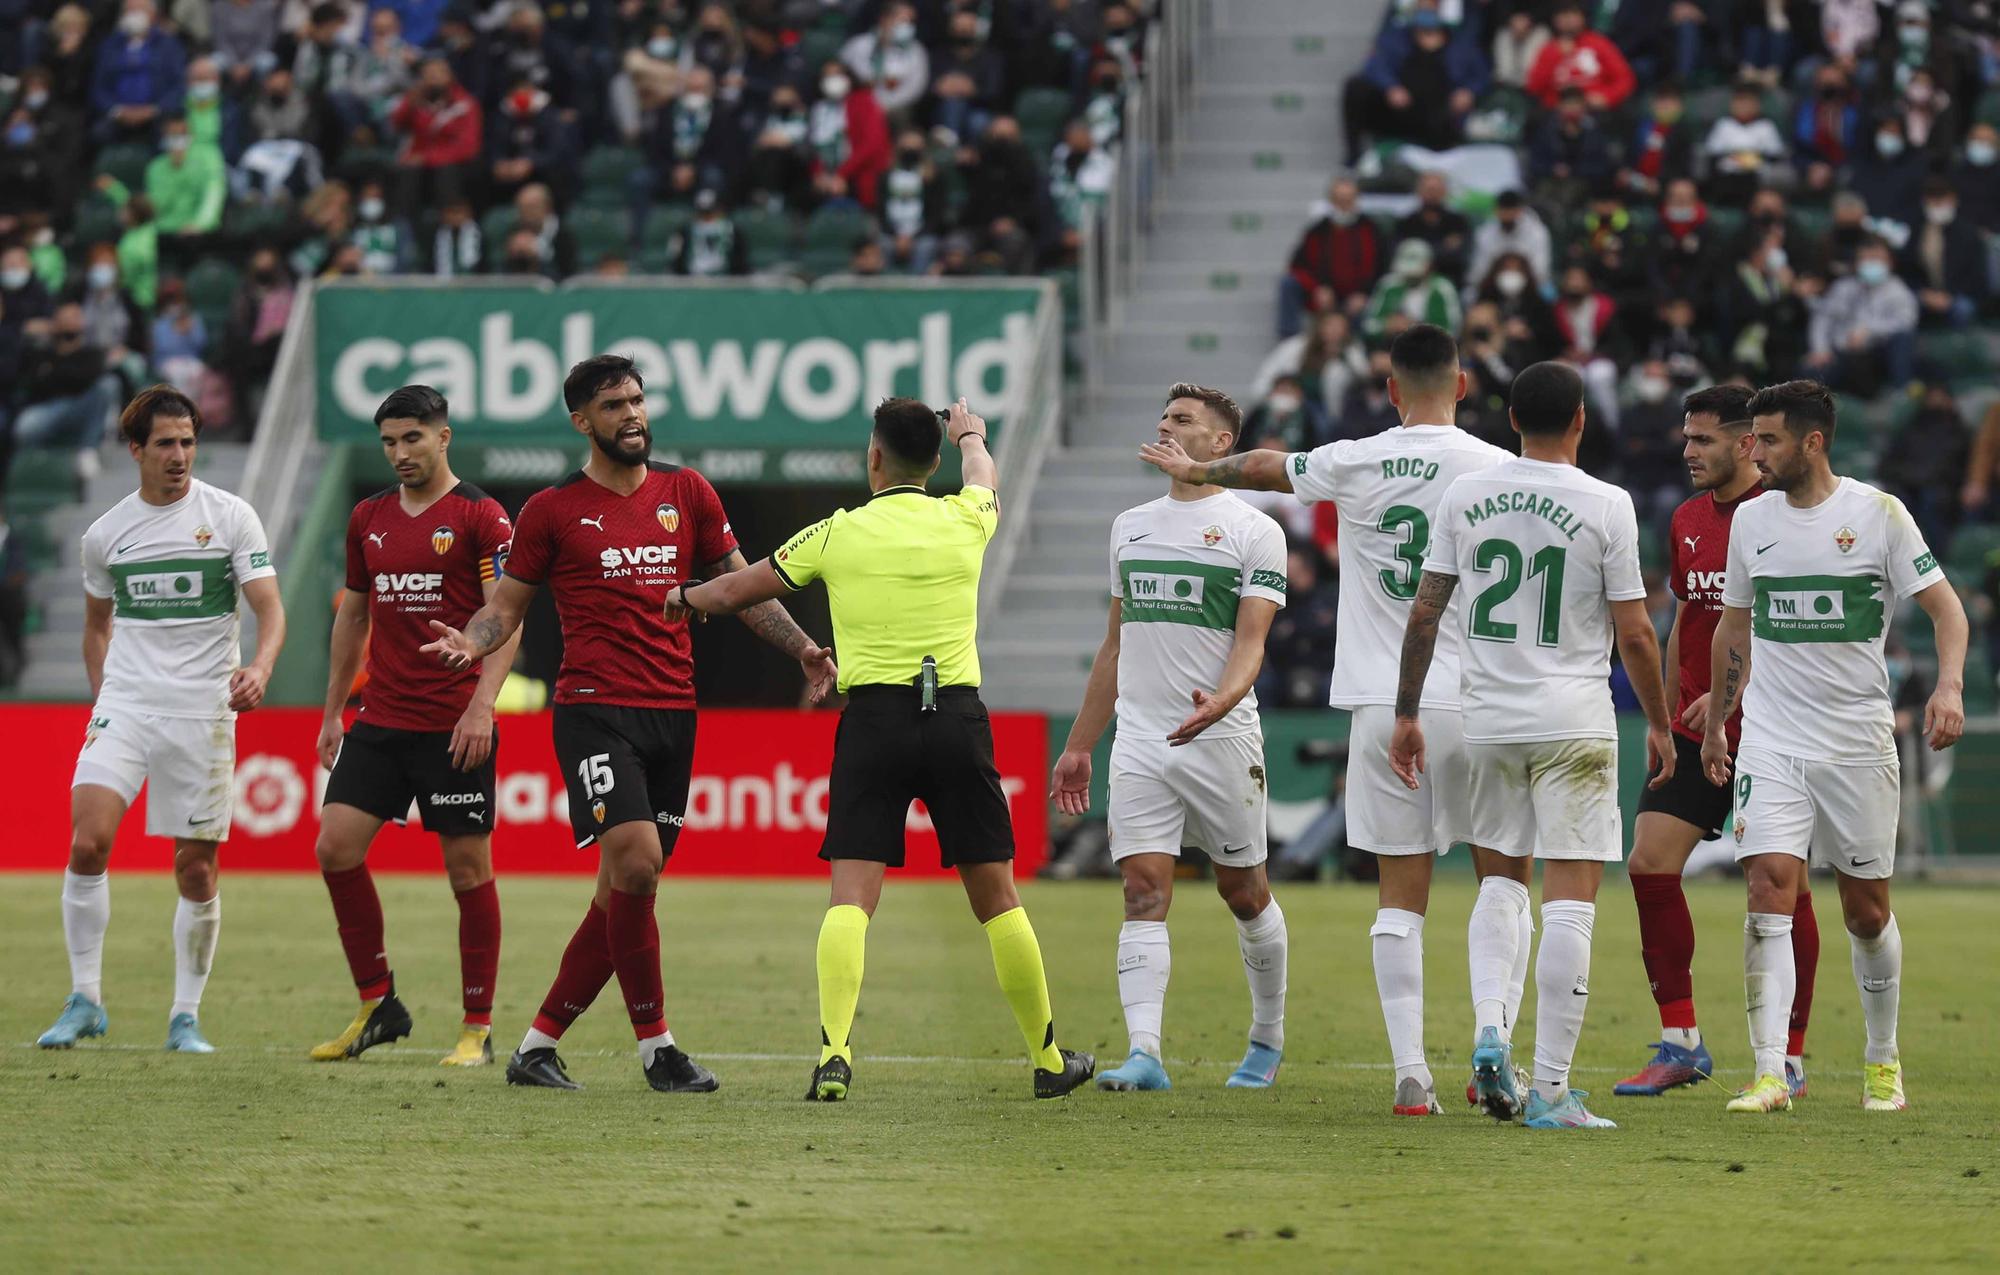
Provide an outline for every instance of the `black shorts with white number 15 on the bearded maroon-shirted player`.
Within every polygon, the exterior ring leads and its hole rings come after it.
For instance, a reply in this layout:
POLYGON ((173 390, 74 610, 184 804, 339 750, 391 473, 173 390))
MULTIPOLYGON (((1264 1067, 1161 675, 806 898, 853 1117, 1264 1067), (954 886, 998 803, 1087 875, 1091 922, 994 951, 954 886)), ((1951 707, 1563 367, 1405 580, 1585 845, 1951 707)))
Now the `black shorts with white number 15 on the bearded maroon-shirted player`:
POLYGON ((554 737, 578 849, 642 821, 658 823, 660 851, 674 853, 694 775, 692 707, 558 703, 554 737))

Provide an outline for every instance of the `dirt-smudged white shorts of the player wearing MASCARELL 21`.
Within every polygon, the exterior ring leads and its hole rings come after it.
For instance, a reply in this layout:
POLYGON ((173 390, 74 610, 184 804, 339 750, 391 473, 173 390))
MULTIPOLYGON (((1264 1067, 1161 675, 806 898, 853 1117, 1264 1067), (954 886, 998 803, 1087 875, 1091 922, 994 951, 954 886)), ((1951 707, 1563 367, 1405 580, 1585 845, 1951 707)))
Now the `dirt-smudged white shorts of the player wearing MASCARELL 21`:
POLYGON ((1624 857, 1618 741, 1466 743, 1472 843, 1514 859, 1624 857))

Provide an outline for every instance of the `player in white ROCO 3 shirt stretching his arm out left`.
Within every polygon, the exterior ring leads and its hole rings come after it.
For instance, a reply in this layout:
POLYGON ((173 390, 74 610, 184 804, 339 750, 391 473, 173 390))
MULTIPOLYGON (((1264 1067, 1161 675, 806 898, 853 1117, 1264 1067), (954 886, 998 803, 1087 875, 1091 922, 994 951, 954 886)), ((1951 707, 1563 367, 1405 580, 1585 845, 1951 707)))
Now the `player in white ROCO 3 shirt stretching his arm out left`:
MULTIPOLYGON (((1246 452, 1210 464, 1174 456, 1160 444, 1146 452, 1146 460, 1184 482, 1292 492, 1304 502, 1330 500, 1340 510, 1340 632, 1334 638, 1328 701, 1354 713, 1348 735, 1348 843, 1372 851, 1380 867, 1378 911, 1368 933, 1396 1065, 1392 1109, 1396 1115, 1432 1115, 1440 1107, 1424 1061, 1430 869, 1436 855, 1472 833, 1458 729, 1456 604, 1424 681, 1430 773, 1410 789, 1382 759, 1394 725, 1396 653, 1438 502, 1460 474, 1512 456, 1456 428, 1466 376, 1458 370, 1458 342, 1444 328, 1416 324, 1396 338, 1388 394, 1402 426, 1374 438, 1290 456, 1246 452)), ((1474 851, 1474 857, 1484 857, 1484 851, 1474 851)), ((1526 909, 1508 915, 1520 925, 1520 969, 1512 979, 1506 1021, 1512 1027, 1528 979, 1532 921, 1526 909)))

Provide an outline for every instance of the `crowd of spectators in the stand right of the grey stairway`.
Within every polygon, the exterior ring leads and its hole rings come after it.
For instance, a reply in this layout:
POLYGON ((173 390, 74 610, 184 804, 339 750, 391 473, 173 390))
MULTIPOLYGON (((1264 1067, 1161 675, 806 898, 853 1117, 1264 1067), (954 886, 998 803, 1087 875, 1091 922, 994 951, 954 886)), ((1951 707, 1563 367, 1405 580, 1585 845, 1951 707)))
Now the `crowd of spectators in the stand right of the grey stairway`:
MULTIPOLYGON (((1688 496, 1682 396, 1810 376, 1868 400, 1838 468, 1896 492, 1944 558, 2000 516, 2000 408, 1978 402, 2000 350, 1996 84, 1990 0, 1396 0, 1344 88, 1348 170, 1292 250, 1244 444, 1394 426, 1388 342, 1442 324, 1460 424, 1506 448, 1514 374, 1578 368, 1580 462, 1658 544, 1688 496)), ((1336 524, 1272 510, 1298 548, 1260 689, 1318 703, 1336 524)), ((2000 570, 1960 584, 2000 602, 2000 570)))

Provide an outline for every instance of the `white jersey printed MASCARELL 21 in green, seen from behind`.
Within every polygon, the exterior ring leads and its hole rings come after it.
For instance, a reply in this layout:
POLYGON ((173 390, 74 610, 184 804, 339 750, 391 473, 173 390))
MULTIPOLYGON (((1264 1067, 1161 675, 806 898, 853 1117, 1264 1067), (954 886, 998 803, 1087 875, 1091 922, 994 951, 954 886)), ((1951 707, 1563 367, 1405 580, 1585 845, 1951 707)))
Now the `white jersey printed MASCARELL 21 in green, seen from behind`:
POLYGON ((1426 572, 1464 594, 1466 741, 1616 739, 1612 602, 1646 596, 1622 488, 1510 458, 1452 484, 1426 572))

